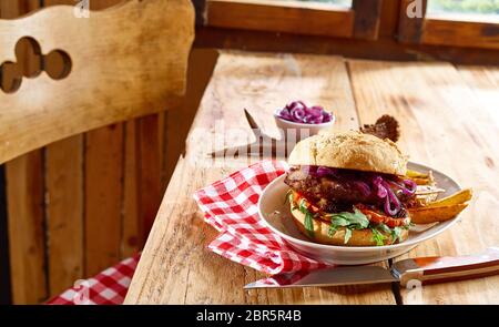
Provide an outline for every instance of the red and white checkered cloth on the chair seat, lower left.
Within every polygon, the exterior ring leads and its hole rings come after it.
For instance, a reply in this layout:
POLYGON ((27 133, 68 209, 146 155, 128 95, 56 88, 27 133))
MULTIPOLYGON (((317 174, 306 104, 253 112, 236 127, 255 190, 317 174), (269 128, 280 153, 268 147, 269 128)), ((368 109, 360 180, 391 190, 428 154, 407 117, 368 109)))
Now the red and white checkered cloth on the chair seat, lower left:
POLYGON ((120 305, 123 303, 140 255, 122 260, 95 277, 78 280, 74 287, 52 298, 50 305, 120 305))

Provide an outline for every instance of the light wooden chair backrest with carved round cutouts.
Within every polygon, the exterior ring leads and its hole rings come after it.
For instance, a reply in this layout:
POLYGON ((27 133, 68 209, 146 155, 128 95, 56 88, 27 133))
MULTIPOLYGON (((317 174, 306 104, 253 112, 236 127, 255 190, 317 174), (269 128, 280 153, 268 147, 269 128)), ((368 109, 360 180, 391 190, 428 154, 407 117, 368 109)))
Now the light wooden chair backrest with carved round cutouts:
POLYGON ((0 84, 10 85, 0 89, 0 163, 177 103, 193 39, 190 0, 129 0, 89 17, 57 6, 0 20, 0 84), (31 74, 17 70, 20 40, 39 59, 31 74), (60 69, 44 71, 50 62, 60 69))

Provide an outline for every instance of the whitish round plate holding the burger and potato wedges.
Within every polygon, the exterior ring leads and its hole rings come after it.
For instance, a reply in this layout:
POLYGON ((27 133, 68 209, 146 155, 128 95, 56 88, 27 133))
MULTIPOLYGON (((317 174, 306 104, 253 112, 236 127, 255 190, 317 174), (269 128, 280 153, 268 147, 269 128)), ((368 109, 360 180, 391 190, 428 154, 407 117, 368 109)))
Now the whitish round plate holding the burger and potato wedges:
MULTIPOLYGON (((408 167, 420 172, 432 171, 437 185, 446 190, 446 193, 441 194, 440 197, 445 197, 461 190, 452 178, 436 170, 416 163, 409 163, 408 167)), ((330 264, 364 265, 399 256, 414 248, 419 243, 442 233, 458 221, 458 216, 456 216, 444 223, 416 225, 410 228, 408 239, 394 245, 353 247, 313 243, 299 233, 291 218, 289 205, 284 203, 286 192, 289 190, 284 183, 284 177, 285 175, 275 178, 263 191, 262 196, 258 200, 259 216, 266 225, 276 234, 281 235, 291 247, 307 257, 330 264), (281 214, 276 215, 276 212, 281 214)))

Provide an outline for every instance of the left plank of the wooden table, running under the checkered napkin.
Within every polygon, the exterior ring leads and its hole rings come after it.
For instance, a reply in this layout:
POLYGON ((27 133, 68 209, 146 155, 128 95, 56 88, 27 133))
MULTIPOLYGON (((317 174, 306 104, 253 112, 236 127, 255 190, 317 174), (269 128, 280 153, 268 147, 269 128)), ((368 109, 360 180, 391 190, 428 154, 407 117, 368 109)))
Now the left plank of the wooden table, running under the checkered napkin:
POLYGON ((263 275, 208 252, 216 232, 202 221, 195 190, 247 165, 215 166, 205 153, 245 144, 247 108, 277 135, 272 112, 289 100, 323 104, 338 115, 338 130, 358 129, 345 62, 335 57, 223 53, 205 91, 152 233, 129 289, 126 304, 394 304, 389 285, 244 292, 263 275), (236 131, 230 129, 236 129, 236 131), (221 131, 222 142, 214 133, 221 131), (225 139, 225 142, 223 142, 225 139), (213 145, 216 147, 213 149, 213 145))

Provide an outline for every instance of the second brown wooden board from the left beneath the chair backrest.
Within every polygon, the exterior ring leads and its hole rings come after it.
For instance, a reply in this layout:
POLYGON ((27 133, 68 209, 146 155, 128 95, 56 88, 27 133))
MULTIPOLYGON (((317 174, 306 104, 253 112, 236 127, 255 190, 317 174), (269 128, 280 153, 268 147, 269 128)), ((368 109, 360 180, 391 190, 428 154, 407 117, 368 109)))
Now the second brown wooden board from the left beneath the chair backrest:
POLYGON ((83 135, 45 149, 45 214, 50 294, 83 278, 83 135))

